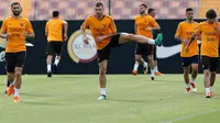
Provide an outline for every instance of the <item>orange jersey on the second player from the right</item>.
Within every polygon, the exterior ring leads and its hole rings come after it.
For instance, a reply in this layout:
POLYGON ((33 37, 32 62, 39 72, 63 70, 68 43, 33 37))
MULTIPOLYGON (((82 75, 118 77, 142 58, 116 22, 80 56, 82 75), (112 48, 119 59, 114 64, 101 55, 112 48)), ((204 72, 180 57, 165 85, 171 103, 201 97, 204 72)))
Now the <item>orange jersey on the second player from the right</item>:
MULTIPOLYGON (((198 26, 197 22, 194 22, 194 23, 187 23, 186 21, 180 22, 176 30, 176 36, 179 36, 183 40, 189 41, 197 26, 198 26)), ((199 48, 198 48, 197 40, 191 42, 191 44, 189 45, 188 53, 185 52, 185 47, 186 47, 186 44, 182 43, 182 53, 180 53, 182 57, 191 57, 191 56, 198 55, 199 48)))

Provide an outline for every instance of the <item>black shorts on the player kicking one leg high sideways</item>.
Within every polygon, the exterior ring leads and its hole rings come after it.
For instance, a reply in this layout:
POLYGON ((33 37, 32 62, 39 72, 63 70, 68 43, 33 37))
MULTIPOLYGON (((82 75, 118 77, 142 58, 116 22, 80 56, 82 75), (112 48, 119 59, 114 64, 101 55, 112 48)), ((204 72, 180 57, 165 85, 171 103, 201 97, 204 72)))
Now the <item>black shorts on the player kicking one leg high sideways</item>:
POLYGON ((111 37, 111 41, 109 42, 109 44, 105 48, 97 49, 98 63, 101 63, 105 59, 109 59, 111 47, 116 47, 116 46, 120 46, 121 45, 121 44, 119 44, 120 36, 121 36, 120 33, 113 35, 111 37))

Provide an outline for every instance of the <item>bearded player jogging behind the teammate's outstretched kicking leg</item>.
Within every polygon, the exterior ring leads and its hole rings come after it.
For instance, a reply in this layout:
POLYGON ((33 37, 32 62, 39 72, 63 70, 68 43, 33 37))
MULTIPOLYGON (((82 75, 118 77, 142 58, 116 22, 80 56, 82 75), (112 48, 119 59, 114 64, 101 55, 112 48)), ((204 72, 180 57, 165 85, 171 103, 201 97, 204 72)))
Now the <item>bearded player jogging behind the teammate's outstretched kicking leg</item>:
MULTIPOLYGON (((135 16, 135 33, 138 35, 143 35, 148 38, 153 38, 152 31, 161 30, 158 23, 155 21, 154 18, 151 15, 146 14, 146 4, 140 4, 139 5, 139 12, 140 14, 135 16)), ((136 43, 136 49, 135 49, 135 64, 134 64, 134 69, 132 71, 133 75, 138 74, 138 67, 139 64, 146 65, 144 64, 142 57, 143 55, 147 56, 148 63, 150 63, 150 68, 151 68, 151 78, 154 80, 154 58, 153 58, 153 52, 154 52, 154 46, 150 44, 141 44, 136 43)))

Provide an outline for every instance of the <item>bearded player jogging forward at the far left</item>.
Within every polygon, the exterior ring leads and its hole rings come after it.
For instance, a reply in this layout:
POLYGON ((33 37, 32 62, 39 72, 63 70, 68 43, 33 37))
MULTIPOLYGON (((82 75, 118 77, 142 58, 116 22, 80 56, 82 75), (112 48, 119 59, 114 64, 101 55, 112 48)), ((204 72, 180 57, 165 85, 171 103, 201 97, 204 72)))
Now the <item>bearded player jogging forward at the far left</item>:
POLYGON ((0 36, 7 38, 6 65, 8 81, 10 82, 7 94, 14 93, 13 100, 19 102, 22 70, 26 56, 25 38, 35 35, 31 22, 21 16, 22 7, 19 2, 11 3, 11 11, 12 16, 3 20, 0 36))

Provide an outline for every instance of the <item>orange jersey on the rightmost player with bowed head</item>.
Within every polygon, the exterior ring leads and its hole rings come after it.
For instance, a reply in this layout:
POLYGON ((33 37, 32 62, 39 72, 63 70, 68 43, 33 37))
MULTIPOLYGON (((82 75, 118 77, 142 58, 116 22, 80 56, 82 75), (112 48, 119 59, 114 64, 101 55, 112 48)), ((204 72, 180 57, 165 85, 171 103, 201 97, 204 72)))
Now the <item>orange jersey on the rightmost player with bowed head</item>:
MULTIPOLYGON (((219 33, 215 29, 216 23, 209 24, 201 22, 196 30, 196 34, 201 34, 201 53, 202 56, 219 57, 219 33)), ((220 24, 218 24, 220 27, 220 24)))

